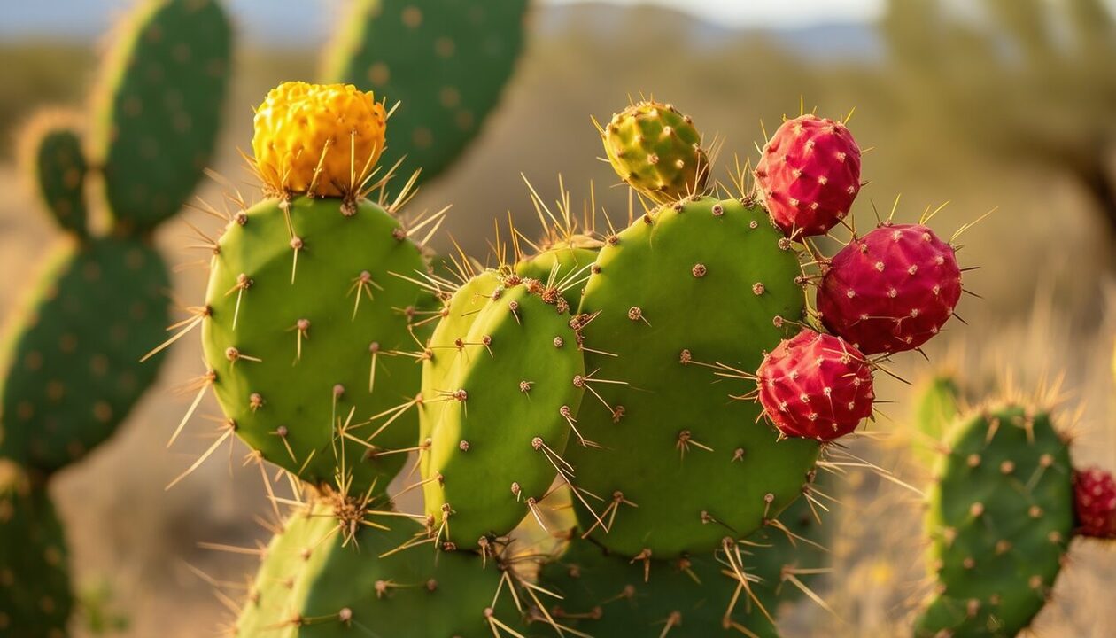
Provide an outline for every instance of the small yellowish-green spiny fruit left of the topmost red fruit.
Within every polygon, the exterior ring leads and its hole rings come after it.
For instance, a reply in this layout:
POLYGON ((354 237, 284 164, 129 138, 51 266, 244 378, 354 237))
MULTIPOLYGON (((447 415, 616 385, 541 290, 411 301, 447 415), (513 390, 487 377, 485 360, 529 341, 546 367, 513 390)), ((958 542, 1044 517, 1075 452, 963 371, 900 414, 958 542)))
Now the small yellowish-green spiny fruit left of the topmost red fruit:
POLYGON ((705 191, 709 158, 693 121, 670 104, 641 102, 600 133, 616 174, 658 202, 705 191))

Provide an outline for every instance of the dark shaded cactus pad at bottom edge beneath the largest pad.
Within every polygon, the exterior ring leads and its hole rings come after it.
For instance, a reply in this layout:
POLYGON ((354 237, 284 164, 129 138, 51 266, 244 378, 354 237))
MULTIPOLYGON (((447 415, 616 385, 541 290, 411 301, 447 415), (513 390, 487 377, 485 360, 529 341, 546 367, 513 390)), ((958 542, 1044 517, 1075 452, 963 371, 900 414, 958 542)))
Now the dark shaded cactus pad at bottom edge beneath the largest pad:
MULTIPOLYGON (((590 636, 778 638, 743 590, 727 618, 740 581, 723 555, 652 561, 645 572, 647 566, 575 540, 542 568, 539 584, 562 597, 549 610, 555 621, 590 636)), ((757 596, 763 590, 759 583, 749 587, 757 596)))

